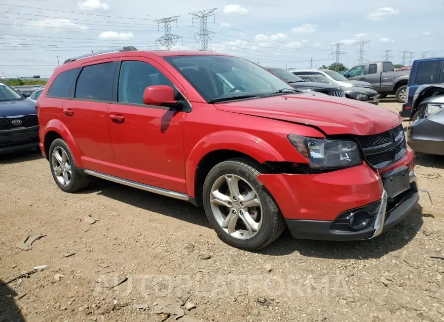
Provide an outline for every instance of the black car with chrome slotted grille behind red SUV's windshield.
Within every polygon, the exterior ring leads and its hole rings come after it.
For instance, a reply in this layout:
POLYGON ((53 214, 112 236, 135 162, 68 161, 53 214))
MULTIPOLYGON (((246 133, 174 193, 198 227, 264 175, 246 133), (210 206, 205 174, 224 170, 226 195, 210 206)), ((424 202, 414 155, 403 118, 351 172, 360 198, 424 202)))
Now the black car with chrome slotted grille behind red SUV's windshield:
POLYGON ((282 78, 292 87, 298 90, 314 91, 335 97, 345 97, 344 91, 339 86, 332 86, 317 82, 307 82, 284 68, 265 67, 265 69, 271 71, 273 74, 282 78))

